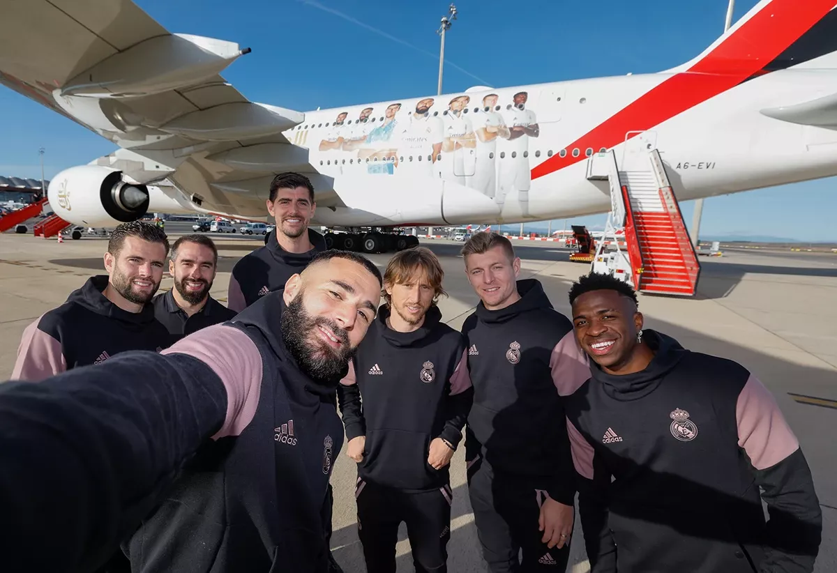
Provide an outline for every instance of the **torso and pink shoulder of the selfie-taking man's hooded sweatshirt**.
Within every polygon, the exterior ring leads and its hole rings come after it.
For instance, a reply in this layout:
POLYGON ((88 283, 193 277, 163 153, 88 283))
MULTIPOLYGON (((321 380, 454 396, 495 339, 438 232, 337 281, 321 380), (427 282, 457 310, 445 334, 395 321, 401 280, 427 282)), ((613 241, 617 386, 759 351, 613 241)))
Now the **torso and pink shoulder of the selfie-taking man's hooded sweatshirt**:
POLYGON ((163 351, 210 366, 228 414, 131 538, 132 570, 327 570, 321 509, 343 443, 332 404, 346 370, 328 381, 301 371, 282 340, 284 310, 271 294, 163 351))

